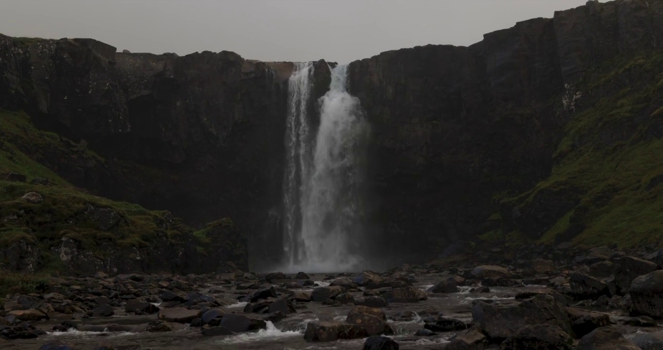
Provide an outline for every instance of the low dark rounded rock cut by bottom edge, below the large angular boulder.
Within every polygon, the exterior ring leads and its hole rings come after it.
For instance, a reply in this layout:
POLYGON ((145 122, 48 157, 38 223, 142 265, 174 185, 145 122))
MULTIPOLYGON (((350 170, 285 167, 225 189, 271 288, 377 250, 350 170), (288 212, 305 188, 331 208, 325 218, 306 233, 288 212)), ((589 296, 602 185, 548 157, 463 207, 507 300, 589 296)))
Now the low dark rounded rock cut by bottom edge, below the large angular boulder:
POLYGON ((571 350, 573 338, 556 325, 526 325, 501 345, 501 350, 571 350))

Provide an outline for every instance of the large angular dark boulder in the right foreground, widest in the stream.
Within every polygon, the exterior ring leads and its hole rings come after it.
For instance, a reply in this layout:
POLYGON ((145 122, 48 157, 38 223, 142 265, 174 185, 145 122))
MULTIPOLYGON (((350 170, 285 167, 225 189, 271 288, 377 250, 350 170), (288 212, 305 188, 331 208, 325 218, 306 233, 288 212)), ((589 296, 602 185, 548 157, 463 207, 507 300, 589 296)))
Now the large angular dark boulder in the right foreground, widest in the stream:
POLYGON ((550 295, 535 296, 513 306, 497 306, 475 301, 472 322, 491 339, 506 339, 526 325, 557 325, 572 335, 571 321, 562 306, 550 295))

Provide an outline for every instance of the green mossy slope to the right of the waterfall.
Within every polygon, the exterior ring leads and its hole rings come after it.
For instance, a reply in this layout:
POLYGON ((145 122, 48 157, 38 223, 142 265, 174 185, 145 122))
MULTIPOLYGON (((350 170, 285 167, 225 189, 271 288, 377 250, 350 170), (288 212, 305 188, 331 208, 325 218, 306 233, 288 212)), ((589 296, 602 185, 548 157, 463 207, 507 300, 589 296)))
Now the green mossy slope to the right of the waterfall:
MULTIPOLYGON (((530 217, 548 202, 555 219, 530 241, 572 240, 579 246, 663 245, 663 54, 617 58, 585 74, 577 91, 585 102, 566 125, 550 177, 503 200, 530 217), (554 204, 551 204, 554 202, 554 204), (554 212, 565 207, 566 212, 554 212)), ((562 209, 564 210, 564 209, 562 209)), ((507 213, 503 213, 505 216, 507 213)), ((531 231, 531 230, 530 230, 531 231)), ((493 239, 496 233, 483 236, 493 239)))

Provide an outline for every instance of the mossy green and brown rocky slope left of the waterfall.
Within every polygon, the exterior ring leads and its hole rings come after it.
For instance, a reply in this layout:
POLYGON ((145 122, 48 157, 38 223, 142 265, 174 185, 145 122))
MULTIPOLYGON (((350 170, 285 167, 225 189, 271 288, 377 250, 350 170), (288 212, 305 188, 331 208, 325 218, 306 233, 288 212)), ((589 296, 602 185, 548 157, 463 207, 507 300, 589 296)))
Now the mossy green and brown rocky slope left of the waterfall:
MULTIPOLYGON (((71 148, 78 153, 74 156, 87 162, 105 161, 84 145, 36 129, 23 112, 0 110, 0 249, 24 241, 48 255, 63 237, 69 237, 82 249, 103 257, 102 245, 142 249, 157 237, 166 237, 173 242, 192 241, 204 255, 213 253, 208 252, 210 242, 218 241, 218 237, 208 238, 209 227, 194 236, 194 229, 169 211, 147 210, 137 204, 93 196, 42 164, 45 156, 71 154, 71 148), (5 180, 9 174, 21 174, 27 181, 5 180), (23 198, 29 192, 38 194, 38 199, 23 198)), ((57 166, 58 162, 54 163, 57 166)), ((235 232, 230 237, 240 240, 227 243, 233 245, 238 259, 245 259, 243 236, 235 232)), ((52 261, 49 258, 43 260, 52 261)))

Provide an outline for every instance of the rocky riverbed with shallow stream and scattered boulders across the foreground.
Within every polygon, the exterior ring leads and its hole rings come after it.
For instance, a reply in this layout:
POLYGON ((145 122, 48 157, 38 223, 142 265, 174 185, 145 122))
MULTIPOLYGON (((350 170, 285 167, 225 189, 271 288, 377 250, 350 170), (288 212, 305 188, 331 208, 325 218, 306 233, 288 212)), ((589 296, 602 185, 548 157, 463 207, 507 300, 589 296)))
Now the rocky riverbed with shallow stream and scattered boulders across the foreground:
POLYGON ((5 299, 0 348, 662 349, 657 254, 457 265, 52 278, 5 299))

